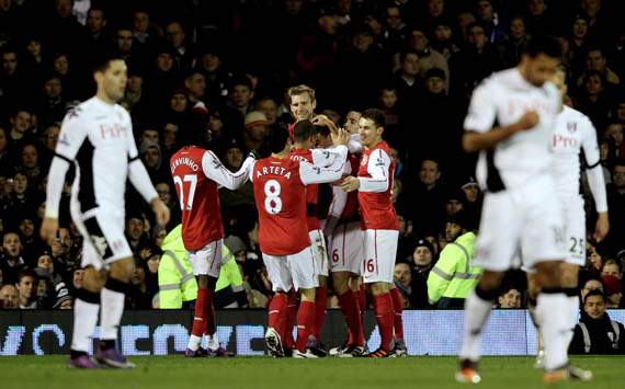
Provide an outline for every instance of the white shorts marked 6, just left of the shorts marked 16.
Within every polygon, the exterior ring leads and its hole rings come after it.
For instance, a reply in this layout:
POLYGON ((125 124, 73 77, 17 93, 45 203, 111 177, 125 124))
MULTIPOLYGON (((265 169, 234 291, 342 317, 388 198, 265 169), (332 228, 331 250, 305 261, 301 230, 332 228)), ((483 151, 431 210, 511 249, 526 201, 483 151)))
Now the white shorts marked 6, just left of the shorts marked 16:
POLYGON ((330 240, 330 272, 363 271, 363 230, 360 221, 338 225, 330 240))

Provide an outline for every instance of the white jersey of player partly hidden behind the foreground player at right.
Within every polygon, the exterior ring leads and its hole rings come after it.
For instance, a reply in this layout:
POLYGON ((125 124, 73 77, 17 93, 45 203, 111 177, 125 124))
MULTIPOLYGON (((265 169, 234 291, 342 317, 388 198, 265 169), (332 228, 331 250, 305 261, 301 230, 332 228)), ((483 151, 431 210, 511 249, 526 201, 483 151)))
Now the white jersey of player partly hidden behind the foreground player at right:
POLYGON ((558 196, 579 195, 580 150, 583 149, 588 167, 600 162, 596 131, 588 116, 565 105, 556 117, 550 146, 558 196))

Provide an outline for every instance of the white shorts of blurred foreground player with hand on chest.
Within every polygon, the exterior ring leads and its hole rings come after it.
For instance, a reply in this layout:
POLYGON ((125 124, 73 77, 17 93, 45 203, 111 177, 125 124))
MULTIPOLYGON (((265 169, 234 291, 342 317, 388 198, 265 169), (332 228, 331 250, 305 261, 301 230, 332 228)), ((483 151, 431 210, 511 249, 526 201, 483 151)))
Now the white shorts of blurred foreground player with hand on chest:
POLYGON ((521 265, 532 270, 538 262, 566 256, 562 210, 550 176, 485 195, 476 266, 491 272, 521 265))

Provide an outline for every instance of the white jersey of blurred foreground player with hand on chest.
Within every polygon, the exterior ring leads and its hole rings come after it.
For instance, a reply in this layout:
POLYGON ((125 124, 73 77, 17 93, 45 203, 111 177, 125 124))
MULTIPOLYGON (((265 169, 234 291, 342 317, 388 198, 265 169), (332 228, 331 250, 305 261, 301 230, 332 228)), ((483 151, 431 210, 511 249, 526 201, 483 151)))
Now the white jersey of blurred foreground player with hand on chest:
POLYGON ((464 123, 466 130, 486 133, 496 126, 505 127, 529 111, 536 111, 539 116, 534 128, 480 152, 476 176, 484 191, 519 187, 549 173, 549 140, 559 108, 559 93, 553 83, 535 87, 518 68, 496 72, 476 88, 464 123))

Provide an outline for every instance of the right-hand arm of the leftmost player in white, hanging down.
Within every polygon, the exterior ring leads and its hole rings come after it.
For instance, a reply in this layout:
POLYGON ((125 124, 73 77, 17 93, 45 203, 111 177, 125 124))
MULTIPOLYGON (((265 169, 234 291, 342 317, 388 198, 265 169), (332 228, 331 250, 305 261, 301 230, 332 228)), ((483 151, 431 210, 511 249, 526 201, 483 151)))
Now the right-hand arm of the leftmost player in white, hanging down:
MULTIPOLYGON (((130 118, 128 117, 128 126, 132 128, 130 118)), ((133 186, 139 192, 141 197, 150 204, 156 216, 156 221, 160 226, 169 222, 169 208, 159 198, 146 167, 139 158, 137 145, 134 137, 128 137, 128 180, 133 186)))

